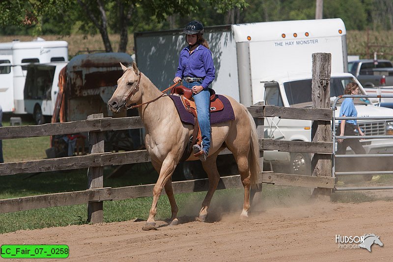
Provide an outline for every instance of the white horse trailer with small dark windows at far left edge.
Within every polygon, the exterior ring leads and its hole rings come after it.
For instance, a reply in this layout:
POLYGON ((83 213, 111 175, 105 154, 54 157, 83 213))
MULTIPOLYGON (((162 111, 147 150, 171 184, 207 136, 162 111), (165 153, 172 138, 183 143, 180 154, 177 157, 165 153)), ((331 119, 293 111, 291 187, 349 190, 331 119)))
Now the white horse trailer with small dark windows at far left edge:
POLYGON ((66 41, 15 40, 0 43, 0 103, 3 112, 26 114, 24 87, 27 66, 31 63, 68 61, 66 41))

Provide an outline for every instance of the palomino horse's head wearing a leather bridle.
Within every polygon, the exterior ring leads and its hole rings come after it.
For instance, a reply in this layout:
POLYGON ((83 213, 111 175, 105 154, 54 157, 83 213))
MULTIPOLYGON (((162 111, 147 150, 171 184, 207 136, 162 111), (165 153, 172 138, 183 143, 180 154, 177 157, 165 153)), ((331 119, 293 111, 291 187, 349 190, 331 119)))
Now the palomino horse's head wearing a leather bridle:
POLYGON ((126 67, 122 63, 120 65, 123 75, 117 80, 117 88, 108 101, 109 109, 115 113, 141 99, 141 92, 139 92, 141 73, 137 64, 133 62, 132 67, 126 67))

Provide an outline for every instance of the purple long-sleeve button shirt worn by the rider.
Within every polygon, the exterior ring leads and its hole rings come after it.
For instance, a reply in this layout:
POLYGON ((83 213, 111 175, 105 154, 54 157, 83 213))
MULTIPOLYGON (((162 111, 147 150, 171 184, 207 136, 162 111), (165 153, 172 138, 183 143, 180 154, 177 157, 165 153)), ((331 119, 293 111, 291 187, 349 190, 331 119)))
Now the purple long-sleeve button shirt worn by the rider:
POLYGON ((191 55, 189 46, 180 51, 177 77, 204 77, 201 86, 206 89, 213 82, 215 72, 212 52, 206 47, 199 45, 191 55))

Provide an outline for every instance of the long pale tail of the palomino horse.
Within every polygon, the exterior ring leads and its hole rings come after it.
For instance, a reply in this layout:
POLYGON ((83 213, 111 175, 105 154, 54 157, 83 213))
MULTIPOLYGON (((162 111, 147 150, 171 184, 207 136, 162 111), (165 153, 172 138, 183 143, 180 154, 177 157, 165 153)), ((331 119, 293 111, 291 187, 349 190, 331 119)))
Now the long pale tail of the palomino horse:
POLYGON ((249 169, 250 169, 250 180, 251 184, 255 185, 257 182, 257 175, 261 171, 259 166, 259 142, 258 142, 258 135, 256 133, 256 126, 254 122, 253 116, 251 116, 250 112, 247 108, 242 105, 244 110, 246 110, 247 115, 250 119, 250 126, 251 126, 251 140, 250 140, 250 151, 249 151, 249 169))

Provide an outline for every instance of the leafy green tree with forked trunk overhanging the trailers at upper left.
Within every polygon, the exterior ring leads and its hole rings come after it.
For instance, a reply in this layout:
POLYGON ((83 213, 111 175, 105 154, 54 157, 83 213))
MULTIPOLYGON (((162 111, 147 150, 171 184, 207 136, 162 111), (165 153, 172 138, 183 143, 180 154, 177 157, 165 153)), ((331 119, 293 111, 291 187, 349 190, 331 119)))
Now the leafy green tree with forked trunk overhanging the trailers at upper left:
MULTIPOLYGON (((176 14, 186 16, 208 3, 218 13, 226 13, 226 20, 234 23, 239 10, 246 6, 246 0, 4 0, 0 2, 2 13, 0 25, 37 26, 41 30, 43 17, 59 14, 67 7, 79 5, 84 11, 82 19, 89 21, 101 34, 105 51, 112 52, 110 30, 120 34, 118 52, 125 52, 128 44, 128 28, 135 28, 140 21, 164 21, 169 17, 170 27, 175 27, 176 14), (163 8, 165 7, 165 8, 163 8), (22 10, 22 12, 21 12, 22 10), (146 15, 149 14, 149 15, 146 15), (83 18, 84 17, 84 18, 83 18), (138 17, 138 20, 135 19, 138 17), (111 19, 110 19, 111 18, 111 19), (112 25, 112 27, 111 27, 112 25)), ((71 8, 73 12, 76 10, 71 8)))

